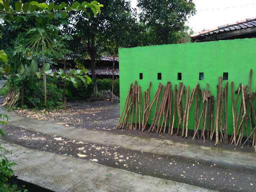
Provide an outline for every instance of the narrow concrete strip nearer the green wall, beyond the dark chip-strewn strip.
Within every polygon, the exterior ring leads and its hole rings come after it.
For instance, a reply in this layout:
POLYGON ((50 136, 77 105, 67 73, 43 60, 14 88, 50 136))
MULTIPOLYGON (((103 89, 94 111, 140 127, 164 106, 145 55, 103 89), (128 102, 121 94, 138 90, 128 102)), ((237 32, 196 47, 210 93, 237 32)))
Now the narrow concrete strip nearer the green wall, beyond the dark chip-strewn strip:
POLYGON ((8 115, 11 117, 9 124, 46 134, 99 144, 117 145, 127 149, 160 155, 175 155, 199 159, 209 163, 218 163, 223 166, 256 170, 256 153, 253 152, 241 152, 217 147, 186 144, 185 142, 142 138, 138 136, 113 134, 107 131, 64 126, 53 121, 40 121, 21 117, 13 112, 8 112, 8 115))

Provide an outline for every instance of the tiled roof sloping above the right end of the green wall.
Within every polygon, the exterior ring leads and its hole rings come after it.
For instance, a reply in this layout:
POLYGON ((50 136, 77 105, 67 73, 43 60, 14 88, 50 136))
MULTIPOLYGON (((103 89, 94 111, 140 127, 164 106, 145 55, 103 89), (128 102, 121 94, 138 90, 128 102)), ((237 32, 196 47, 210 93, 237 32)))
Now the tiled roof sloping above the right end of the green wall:
POLYGON ((209 30, 204 30, 200 32, 196 32, 194 34, 191 34, 191 39, 198 38, 199 36, 210 36, 217 33, 223 33, 228 31, 235 31, 235 30, 241 30, 246 28, 253 28, 256 27, 256 17, 253 18, 246 18, 245 20, 239 20, 236 22, 228 23, 225 25, 217 26, 215 28, 211 28, 209 30))

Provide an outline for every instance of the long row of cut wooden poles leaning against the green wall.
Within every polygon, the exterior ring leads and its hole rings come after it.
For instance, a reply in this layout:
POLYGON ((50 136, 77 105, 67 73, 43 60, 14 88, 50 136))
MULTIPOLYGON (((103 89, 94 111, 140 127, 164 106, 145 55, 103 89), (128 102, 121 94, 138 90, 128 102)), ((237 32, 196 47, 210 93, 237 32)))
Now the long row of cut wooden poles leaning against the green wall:
POLYGON ((235 91, 231 82, 232 131, 228 131, 227 123, 228 82, 223 84, 222 77, 218 78, 215 99, 208 84, 200 88, 197 83, 190 91, 189 85, 185 88, 182 82, 174 84, 173 89, 170 82, 166 85, 159 83, 150 99, 151 82, 142 93, 141 87, 134 81, 129 86, 116 129, 147 130, 185 138, 191 135, 192 139, 202 139, 203 142, 214 139, 215 144, 230 142, 243 146, 247 143, 256 151, 255 93, 251 91, 251 76, 250 69, 248 86, 239 84, 235 91), (193 130, 188 129, 191 115, 193 130))

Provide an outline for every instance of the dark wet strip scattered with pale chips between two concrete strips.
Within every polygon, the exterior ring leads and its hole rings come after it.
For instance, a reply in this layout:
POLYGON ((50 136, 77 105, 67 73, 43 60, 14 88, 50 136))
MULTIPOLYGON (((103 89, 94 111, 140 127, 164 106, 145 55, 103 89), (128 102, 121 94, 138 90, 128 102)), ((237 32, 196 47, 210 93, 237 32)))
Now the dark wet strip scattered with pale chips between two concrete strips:
POLYGON ((94 161, 114 168, 165 178, 218 191, 255 191, 256 173, 178 156, 157 155, 120 146, 97 144, 58 135, 3 127, 4 140, 27 148, 94 161))

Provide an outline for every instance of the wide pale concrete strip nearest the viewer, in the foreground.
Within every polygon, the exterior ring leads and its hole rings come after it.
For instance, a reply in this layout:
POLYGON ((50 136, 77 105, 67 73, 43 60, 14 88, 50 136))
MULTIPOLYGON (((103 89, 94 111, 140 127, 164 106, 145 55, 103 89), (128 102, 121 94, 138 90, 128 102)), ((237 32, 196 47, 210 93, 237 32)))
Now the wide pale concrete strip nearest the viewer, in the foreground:
POLYGON ((143 176, 79 158, 32 150, 2 140, 0 143, 12 151, 9 159, 17 163, 14 171, 18 178, 56 192, 212 191, 161 178, 143 176))

